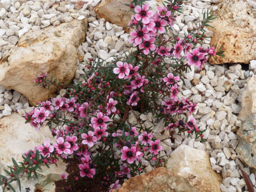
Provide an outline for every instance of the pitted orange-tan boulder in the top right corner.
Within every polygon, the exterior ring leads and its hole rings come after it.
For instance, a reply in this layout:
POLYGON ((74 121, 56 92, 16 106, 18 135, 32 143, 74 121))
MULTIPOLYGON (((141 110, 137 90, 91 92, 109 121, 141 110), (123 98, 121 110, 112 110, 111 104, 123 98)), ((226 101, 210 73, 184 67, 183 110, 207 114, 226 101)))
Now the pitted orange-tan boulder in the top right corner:
MULTIPOLYGON (((216 5, 214 5, 216 6, 216 5)), ((212 9, 211 9, 212 10, 212 9)), ((211 38, 211 46, 217 49, 223 44, 222 50, 226 56, 216 56, 218 62, 210 58, 212 64, 221 63, 246 63, 256 57, 256 13, 246 0, 223 0, 218 4, 218 10, 214 12, 218 17, 210 23, 215 29, 211 38)))

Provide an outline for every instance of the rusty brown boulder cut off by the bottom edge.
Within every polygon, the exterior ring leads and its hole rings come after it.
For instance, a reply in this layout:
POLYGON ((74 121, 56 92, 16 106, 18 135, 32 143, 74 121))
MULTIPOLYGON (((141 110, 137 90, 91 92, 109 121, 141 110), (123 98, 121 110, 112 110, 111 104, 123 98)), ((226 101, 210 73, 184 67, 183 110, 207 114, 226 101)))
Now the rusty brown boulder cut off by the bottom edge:
POLYGON ((188 180, 164 167, 128 179, 118 190, 112 192, 197 192, 188 180))

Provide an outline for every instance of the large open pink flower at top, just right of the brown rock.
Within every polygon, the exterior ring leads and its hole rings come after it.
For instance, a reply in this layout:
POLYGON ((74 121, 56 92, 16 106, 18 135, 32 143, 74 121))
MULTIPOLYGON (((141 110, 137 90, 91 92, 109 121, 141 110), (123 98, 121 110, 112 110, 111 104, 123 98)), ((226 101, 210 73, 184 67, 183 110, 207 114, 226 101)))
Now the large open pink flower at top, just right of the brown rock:
POLYGON ((150 22, 150 18, 154 16, 154 12, 148 11, 148 8, 149 4, 142 5, 142 7, 137 5, 134 8, 134 11, 137 13, 135 14, 135 18, 137 21, 142 20, 143 24, 148 24, 150 22))

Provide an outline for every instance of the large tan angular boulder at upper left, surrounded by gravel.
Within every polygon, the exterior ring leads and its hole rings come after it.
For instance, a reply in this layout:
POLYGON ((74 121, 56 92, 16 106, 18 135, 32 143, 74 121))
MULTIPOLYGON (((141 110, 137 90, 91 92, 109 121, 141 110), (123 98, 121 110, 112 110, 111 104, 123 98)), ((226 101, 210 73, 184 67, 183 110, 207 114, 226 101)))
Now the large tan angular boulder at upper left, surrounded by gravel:
POLYGON ((87 19, 30 30, 0 60, 0 85, 22 93, 32 103, 50 98, 57 87, 48 91, 42 85, 34 86, 36 75, 47 72, 49 79, 53 76, 60 82, 72 80, 77 48, 84 42, 86 31, 87 19))

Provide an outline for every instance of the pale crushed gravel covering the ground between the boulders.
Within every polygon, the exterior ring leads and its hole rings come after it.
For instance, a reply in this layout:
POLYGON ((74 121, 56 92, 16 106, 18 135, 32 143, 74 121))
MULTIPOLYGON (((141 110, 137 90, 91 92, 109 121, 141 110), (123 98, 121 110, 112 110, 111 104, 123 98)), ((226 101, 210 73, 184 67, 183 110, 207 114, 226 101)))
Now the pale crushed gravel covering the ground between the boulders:
MULTIPOLYGON (((84 80, 80 76, 85 74, 88 59, 96 56, 108 63, 113 59, 111 55, 123 56, 132 50, 132 45, 128 43, 129 34, 124 31, 124 28, 106 22, 104 18, 96 18, 94 7, 100 3, 100 0, 89 1, 80 9, 75 5, 77 0, 66 0, 53 5, 56 2, 59 1, 1 0, 0 58, 4 58, 19 38, 30 29, 39 30, 51 24, 57 26, 62 22, 84 18, 88 18, 88 31, 86 41, 77 50, 79 57, 74 83, 84 80)), ((179 36, 183 37, 182 30, 186 31, 187 28, 192 29, 198 26, 198 18, 202 21, 202 12, 214 6, 213 2, 216 0, 185 2, 183 14, 178 14, 173 26, 174 32, 179 32, 179 36)), ((213 11, 217 9, 218 6, 212 8, 213 11)), ((206 35, 213 34, 207 30, 206 35)), ((209 46, 210 38, 205 38, 204 44, 206 47, 209 46)), ((244 120, 238 118, 242 93, 246 90, 248 80, 255 74, 255 69, 255 60, 252 60, 249 65, 207 63, 202 71, 192 67, 192 71, 184 75, 184 83, 180 82, 180 97, 198 102, 199 108, 194 118, 201 129, 207 129, 204 133, 204 144, 199 139, 195 140, 194 136, 187 138, 186 134, 174 134, 175 140, 172 142, 169 132, 165 131, 161 135, 164 124, 161 121, 158 122, 157 118, 152 118, 151 113, 144 113, 144 116, 140 116, 142 120, 146 120, 144 126, 155 126, 152 130, 154 137, 161 140, 164 150, 160 152, 160 156, 164 156, 167 160, 174 149, 185 144, 208 153, 212 170, 222 174, 223 180, 220 184, 222 192, 247 190, 240 168, 250 175, 252 183, 256 186, 255 175, 250 174, 250 169, 242 164, 235 151, 238 145, 236 131, 242 126, 241 121, 244 120)), ((30 110, 28 100, 23 95, 0 86, 0 118, 10 116, 11 112, 22 115, 30 110)), ((132 113, 127 123, 132 125, 137 123, 132 113)), ((146 166, 145 172, 152 170, 152 163, 146 159, 143 160, 146 166)), ((205 173, 202 172, 202 174, 205 173)))

